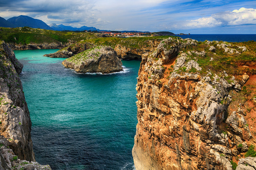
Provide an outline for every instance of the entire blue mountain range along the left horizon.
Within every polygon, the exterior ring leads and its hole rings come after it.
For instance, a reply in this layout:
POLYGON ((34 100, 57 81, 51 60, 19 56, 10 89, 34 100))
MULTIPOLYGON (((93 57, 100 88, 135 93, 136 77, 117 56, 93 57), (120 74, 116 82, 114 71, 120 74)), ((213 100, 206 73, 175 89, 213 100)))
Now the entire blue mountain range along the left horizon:
POLYGON ((20 15, 14 16, 13 18, 4 19, 0 17, 0 27, 31 27, 31 28, 41 28, 41 29, 49 29, 55 31, 100 31, 95 27, 86 27, 82 26, 80 28, 65 26, 63 24, 50 24, 47 25, 42 20, 31 18, 30 16, 20 15))

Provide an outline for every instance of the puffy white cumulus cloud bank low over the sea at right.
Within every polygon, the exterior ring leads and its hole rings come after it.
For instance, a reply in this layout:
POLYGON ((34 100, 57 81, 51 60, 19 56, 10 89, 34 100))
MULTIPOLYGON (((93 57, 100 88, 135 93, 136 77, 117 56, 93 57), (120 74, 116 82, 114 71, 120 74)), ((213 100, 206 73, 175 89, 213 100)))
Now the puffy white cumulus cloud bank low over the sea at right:
POLYGON ((238 25, 255 25, 256 10, 254 8, 240 8, 239 10, 219 12, 208 18, 188 20, 183 27, 203 28, 203 27, 225 27, 238 25))

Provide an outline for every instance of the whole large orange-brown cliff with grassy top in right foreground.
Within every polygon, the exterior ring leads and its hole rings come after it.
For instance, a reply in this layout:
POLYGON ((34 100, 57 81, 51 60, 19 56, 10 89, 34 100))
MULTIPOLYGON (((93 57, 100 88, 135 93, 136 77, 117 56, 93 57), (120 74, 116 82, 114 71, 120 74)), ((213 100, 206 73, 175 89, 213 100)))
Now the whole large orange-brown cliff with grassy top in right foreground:
POLYGON ((253 48, 177 37, 143 54, 133 147, 137 170, 235 169, 238 160, 237 169, 253 167, 255 158, 243 158, 255 145, 249 124, 255 111, 237 96, 245 95, 244 87, 255 95, 255 82, 245 86, 255 70, 238 67, 242 60, 255 63, 253 48))

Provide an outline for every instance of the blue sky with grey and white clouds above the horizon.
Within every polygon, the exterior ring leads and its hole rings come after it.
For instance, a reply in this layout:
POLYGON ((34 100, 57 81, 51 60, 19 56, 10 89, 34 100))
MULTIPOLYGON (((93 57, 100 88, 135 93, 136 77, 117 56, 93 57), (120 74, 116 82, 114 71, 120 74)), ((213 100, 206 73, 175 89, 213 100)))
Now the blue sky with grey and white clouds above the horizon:
POLYGON ((0 16, 72 27, 173 33, 256 33, 256 1, 1 0, 0 16))

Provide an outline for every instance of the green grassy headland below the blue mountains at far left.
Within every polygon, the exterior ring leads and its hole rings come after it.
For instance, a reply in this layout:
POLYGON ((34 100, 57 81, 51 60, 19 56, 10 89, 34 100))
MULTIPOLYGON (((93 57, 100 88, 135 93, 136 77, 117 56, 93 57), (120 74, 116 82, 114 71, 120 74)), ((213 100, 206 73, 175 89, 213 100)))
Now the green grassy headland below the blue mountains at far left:
POLYGON ((67 43, 69 41, 81 41, 96 39, 100 33, 89 32, 61 32, 39 28, 3 28, 0 27, 0 40, 16 44, 42 44, 51 42, 67 43))

